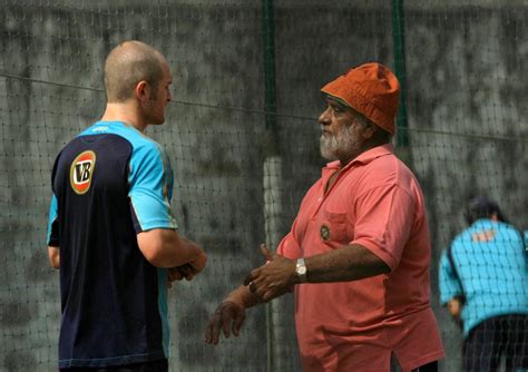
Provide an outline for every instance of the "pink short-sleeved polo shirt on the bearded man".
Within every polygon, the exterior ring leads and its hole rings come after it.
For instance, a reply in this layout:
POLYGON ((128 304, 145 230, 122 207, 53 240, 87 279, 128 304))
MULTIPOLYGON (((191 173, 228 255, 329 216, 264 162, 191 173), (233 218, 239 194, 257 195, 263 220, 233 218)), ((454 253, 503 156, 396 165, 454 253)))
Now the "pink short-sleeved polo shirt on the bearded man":
MULTIPOLYGON (((289 258, 360 244, 391 268, 387 275, 295 286, 295 323, 304 371, 403 371, 444 356, 429 304, 431 244, 420 186, 384 145, 338 176, 327 164, 278 246, 289 258)), ((310 276, 310 272, 309 272, 310 276)))

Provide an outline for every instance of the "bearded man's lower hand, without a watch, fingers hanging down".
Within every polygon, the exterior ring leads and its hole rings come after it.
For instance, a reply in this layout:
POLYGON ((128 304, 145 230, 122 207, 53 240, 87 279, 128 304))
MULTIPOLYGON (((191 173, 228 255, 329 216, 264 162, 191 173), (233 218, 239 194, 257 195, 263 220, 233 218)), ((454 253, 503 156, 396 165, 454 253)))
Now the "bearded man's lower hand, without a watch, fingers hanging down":
POLYGON ((213 319, 205 330, 205 342, 216 345, 221 330, 224 331, 226 339, 229 337, 231 332, 233 332, 235 336, 238 336, 245 317, 246 311, 242 304, 233 301, 224 301, 216 307, 213 319))

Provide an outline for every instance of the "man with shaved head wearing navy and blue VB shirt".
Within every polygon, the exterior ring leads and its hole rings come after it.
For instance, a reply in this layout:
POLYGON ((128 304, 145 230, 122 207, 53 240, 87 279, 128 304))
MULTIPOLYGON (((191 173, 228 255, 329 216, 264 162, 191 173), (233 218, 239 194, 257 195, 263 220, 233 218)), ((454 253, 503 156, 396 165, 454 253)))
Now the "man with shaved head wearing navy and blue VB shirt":
POLYGON ((207 260, 178 234, 168 158, 144 134, 165 121, 170 80, 155 48, 117 46, 102 118, 55 161, 47 244, 60 268, 61 371, 168 370, 167 286, 207 260))

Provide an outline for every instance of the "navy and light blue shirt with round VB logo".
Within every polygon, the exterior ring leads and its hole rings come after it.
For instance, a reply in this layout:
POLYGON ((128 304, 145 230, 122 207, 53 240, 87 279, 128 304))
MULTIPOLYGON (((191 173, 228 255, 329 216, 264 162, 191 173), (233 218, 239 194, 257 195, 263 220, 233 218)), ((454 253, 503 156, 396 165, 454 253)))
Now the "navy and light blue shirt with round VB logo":
POLYGON ((59 368, 168 358, 167 271, 146 261, 137 233, 176 228, 173 173, 154 140, 99 121, 58 155, 48 245, 60 248, 59 368))

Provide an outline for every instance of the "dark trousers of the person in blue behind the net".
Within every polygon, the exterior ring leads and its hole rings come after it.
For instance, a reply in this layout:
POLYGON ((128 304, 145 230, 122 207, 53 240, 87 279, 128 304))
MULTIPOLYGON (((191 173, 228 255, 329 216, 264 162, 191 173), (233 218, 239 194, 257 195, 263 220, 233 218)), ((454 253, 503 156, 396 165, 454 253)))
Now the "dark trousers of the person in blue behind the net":
POLYGON ((506 371, 528 370, 528 315, 502 315, 483 321, 463 342, 463 371, 492 372, 505 358, 506 371))

